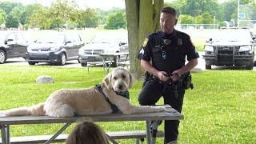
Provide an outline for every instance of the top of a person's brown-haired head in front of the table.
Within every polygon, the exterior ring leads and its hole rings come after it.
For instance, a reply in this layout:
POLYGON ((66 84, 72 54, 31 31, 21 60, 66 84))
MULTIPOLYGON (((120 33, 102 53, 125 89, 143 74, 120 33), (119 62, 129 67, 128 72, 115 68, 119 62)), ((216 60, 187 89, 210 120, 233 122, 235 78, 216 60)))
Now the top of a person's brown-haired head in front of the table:
POLYGON ((66 144, 108 144, 106 134, 94 122, 79 123, 71 131, 66 144))

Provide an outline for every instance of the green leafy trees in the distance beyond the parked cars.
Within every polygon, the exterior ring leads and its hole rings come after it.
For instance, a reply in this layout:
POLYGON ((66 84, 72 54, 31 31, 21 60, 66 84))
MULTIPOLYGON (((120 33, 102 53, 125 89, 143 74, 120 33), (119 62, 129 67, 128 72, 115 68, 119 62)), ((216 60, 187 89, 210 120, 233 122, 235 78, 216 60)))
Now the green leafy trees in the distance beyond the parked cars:
MULTIPOLYGON (((149 0, 149 3, 152 1, 149 0)), ((240 0, 240 3, 255 5, 254 0, 240 0)), ((178 11, 179 22, 182 24, 209 24, 213 23, 214 18, 216 23, 235 22, 238 18, 237 0, 227 0, 223 3, 219 3, 218 0, 173 0, 166 2, 164 6, 174 7, 178 11)), ((256 19, 256 6, 243 7, 241 10, 248 11, 247 19, 256 19)), ((126 10, 124 9, 100 10, 90 7, 81 9, 74 0, 56 0, 49 7, 38 4, 23 6, 18 2, 0 2, 1 24, 7 21, 10 23, 17 18, 18 23, 26 28, 58 29, 66 24, 68 29, 97 26, 103 26, 106 29, 126 28, 126 10), (10 14, 12 16, 9 16, 10 14), (12 20, 6 20, 6 18, 12 18, 12 20)), ((6 26, 17 25, 7 24, 6 26)))

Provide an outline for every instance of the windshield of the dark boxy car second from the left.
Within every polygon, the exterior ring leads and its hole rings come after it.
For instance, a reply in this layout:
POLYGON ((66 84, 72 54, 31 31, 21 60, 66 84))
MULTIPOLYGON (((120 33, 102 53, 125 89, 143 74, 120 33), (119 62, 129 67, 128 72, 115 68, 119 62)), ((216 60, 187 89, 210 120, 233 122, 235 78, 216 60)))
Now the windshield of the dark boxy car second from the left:
POLYGON ((63 43, 64 34, 44 35, 36 41, 37 43, 63 43))

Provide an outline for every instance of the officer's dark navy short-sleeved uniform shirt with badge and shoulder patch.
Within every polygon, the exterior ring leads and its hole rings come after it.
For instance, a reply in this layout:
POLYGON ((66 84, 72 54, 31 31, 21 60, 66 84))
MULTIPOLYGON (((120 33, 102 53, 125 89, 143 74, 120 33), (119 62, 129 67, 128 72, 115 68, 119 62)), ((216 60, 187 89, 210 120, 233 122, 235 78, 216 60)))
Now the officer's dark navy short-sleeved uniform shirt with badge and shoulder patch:
POLYGON ((162 31, 150 34, 138 54, 138 59, 152 61, 154 68, 168 73, 185 66, 186 59, 190 61, 198 57, 190 36, 178 30, 172 34, 162 31))

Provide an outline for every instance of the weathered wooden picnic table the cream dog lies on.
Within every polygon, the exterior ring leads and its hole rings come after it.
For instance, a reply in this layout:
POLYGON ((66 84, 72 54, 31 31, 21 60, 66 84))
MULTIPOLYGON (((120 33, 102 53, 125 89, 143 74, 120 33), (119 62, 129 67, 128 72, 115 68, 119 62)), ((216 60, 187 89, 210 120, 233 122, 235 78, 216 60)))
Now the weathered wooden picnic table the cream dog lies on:
MULTIPOLYGON (((123 122, 123 121, 146 121, 146 138, 147 143, 155 143, 155 138, 152 138, 150 133, 150 121, 157 121, 157 120, 179 120, 182 119, 183 116, 177 110, 173 108, 168 108, 167 112, 156 112, 156 113, 144 113, 144 114, 98 114, 98 115, 86 115, 86 116, 75 116, 71 118, 54 118, 49 116, 15 116, 15 117, 1 117, 0 118, 0 128, 2 134, 2 143, 9 144, 11 142, 10 138, 10 126, 11 125, 26 125, 26 124, 47 124, 47 123, 65 123, 64 126, 60 128, 53 136, 51 136, 46 142, 43 140, 42 142, 50 143, 54 142, 55 138, 58 140, 58 136, 62 134, 67 127, 69 127, 74 122, 84 122, 84 121, 91 121, 91 122, 123 122)), ((119 132, 120 133, 120 132, 119 132)), ((128 133, 128 132, 126 132, 128 133)), ((131 132, 130 135, 134 133, 131 132)), ((107 133, 110 142, 118 143, 114 141, 114 136, 118 139, 117 134, 110 134, 107 133), (112 136, 112 137, 111 137, 112 136)), ((160 133, 159 133, 160 134, 160 133)), ((121 134, 121 136, 125 133, 121 134)), ((136 135, 136 134, 135 134, 136 135)), ((142 134, 138 134, 142 135, 142 134)), ((161 134, 160 134, 161 135, 161 134)), ((163 134, 162 134, 163 135, 163 134)), ((34 138, 34 137, 31 137, 34 138)), ((30 138, 30 139, 31 139, 30 138)), ((39 138, 39 137, 38 137, 39 138)), ((119 137, 121 138, 121 137, 119 137)), ((136 138, 135 136, 133 138, 136 138)), ((140 136, 138 138, 144 138, 144 136, 140 136)), ((26 138, 22 138, 25 140, 26 138)), ((63 139, 63 138, 62 138, 63 139)), ((36 139, 34 140, 34 142, 36 139)), ((23 142, 25 143, 25 142, 23 142)), ((33 142, 30 142, 33 143, 33 142)))

